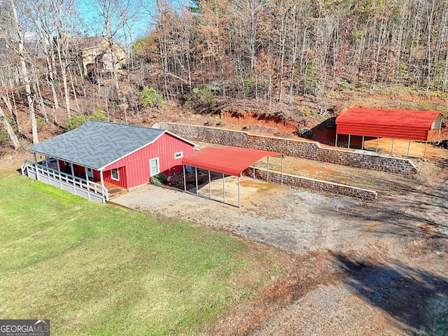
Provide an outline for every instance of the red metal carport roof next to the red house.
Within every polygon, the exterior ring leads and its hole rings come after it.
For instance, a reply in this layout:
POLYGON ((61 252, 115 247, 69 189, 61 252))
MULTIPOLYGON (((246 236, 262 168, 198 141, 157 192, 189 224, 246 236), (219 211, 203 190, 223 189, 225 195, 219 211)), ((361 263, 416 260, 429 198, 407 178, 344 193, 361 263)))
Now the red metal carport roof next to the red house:
POLYGON ((260 151, 258 149, 232 146, 206 147, 182 159, 182 164, 211 172, 242 176, 247 167, 267 156, 279 156, 282 153, 260 151))

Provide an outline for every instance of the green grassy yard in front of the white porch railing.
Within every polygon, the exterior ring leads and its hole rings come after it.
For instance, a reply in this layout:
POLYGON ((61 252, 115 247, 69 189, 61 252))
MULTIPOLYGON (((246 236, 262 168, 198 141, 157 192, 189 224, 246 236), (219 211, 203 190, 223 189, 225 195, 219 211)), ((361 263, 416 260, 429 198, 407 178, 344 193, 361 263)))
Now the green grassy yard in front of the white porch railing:
POLYGON ((279 269, 269 249, 10 168, 0 169, 0 225, 0 316, 50 318, 52 335, 200 335, 279 269))

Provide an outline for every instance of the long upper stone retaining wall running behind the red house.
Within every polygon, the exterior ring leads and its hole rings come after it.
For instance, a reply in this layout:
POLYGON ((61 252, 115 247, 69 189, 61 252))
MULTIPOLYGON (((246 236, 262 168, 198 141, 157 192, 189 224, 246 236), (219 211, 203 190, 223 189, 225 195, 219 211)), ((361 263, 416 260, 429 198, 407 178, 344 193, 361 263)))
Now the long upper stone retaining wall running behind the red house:
POLYGON ((382 172, 399 174, 414 174, 417 172, 416 167, 409 159, 393 158, 387 154, 371 153, 369 151, 343 151, 337 148, 325 148, 313 141, 263 137, 241 131, 176 123, 158 123, 153 127, 168 130, 190 141, 255 148, 264 151, 284 153, 295 158, 374 169, 382 172))

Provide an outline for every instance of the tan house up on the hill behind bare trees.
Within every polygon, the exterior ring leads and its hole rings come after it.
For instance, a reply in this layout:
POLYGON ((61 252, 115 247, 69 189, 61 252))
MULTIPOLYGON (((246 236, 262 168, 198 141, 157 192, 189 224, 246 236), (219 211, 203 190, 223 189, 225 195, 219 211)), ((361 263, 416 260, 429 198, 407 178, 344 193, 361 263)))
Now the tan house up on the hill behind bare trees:
POLYGON ((75 51, 74 54, 78 55, 85 76, 92 68, 113 71, 126 66, 125 49, 116 42, 111 45, 104 36, 70 38, 69 45, 75 51))

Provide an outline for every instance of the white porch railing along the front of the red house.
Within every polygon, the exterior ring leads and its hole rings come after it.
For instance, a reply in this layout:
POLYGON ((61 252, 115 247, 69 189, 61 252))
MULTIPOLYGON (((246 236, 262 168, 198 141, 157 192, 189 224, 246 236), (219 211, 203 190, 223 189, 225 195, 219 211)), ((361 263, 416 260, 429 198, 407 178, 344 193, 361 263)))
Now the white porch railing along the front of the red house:
POLYGON ((36 179, 51 186, 61 188, 74 195, 85 197, 96 202, 104 203, 109 201, 109 191, 99 183, 59 172, 29 160, 25 160, 21 169, 22 175, 27 175, 31 179, 36 179))

